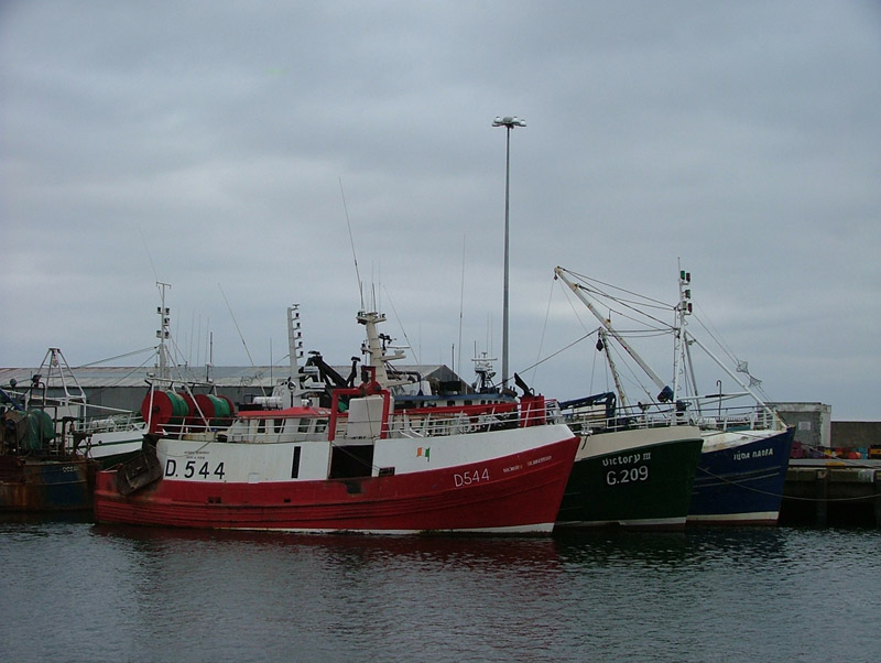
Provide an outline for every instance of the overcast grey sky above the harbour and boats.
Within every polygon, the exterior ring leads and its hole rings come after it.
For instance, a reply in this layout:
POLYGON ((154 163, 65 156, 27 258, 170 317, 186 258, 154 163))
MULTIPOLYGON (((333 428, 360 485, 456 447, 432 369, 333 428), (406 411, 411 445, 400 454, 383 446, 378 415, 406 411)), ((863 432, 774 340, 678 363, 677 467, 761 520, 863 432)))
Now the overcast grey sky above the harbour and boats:
POLYGON ((878 421, 879 72, 874 0, 3 0, 0 366, 150 347, 157 281, 181 359, 278 363, 298 303, 345 365, 360 275, 414 361, 471 380, 516 115, 511 372, 603 391, 595 340, 556 354, 596 324, 554 267, 673 304, 682 260, 772 400, 878 421))

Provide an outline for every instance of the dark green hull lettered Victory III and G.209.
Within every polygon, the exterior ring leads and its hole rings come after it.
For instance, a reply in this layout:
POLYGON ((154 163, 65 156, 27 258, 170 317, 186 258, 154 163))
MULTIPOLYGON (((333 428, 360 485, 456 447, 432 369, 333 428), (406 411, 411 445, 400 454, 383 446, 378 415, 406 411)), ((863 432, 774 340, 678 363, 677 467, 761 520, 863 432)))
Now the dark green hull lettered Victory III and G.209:
POLYGON ((701 445, 694 426, 585 437, 557 526, 683 529, 701 445))

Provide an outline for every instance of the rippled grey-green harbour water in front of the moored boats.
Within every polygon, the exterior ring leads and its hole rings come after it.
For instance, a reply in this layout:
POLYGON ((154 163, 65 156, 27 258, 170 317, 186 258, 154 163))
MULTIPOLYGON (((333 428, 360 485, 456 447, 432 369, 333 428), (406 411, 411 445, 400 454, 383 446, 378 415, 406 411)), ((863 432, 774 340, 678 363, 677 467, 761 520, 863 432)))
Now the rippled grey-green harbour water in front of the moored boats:
POLYGON ((551 539, 0 520, 0 661, 878 661, 881 530, 551 539))

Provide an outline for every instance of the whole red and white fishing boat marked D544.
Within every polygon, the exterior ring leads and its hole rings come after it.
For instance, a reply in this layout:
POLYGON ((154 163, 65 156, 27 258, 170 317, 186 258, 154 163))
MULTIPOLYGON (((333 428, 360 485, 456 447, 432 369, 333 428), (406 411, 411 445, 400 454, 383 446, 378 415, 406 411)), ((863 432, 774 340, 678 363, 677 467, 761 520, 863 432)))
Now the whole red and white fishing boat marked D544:
MULTIPOLYGON (((368 346, 384 317, 359 313, 368 346)), ((230 421, 148 398, 142 456, 98 474, 99 523, 368 533, 553 529, 577 437, 544 399, 395 411, 378 367, 360 387, 230 421)), ((183 404, 182 404, 183 403, 183 404)), ((232 413, 230 413, 232 414, 232 413)))

